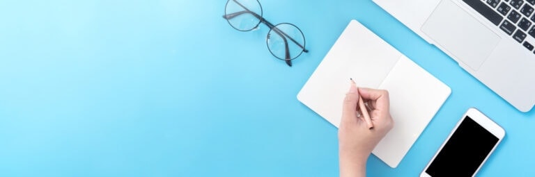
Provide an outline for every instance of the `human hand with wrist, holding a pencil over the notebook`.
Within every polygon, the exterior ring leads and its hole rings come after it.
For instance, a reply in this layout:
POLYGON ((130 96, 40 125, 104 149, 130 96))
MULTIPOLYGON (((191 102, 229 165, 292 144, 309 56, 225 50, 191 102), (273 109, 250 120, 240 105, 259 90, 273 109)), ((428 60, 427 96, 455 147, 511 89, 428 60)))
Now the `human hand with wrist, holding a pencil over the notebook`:
POLYGON ((386 90, 357 88, 351 84, 343 101, 338 130, 340 176, 366 176, 366 161, 382 137, 394 126, 386 90), (367 103, 373 128, 369 129, 359 110, 359 96, 367 103))

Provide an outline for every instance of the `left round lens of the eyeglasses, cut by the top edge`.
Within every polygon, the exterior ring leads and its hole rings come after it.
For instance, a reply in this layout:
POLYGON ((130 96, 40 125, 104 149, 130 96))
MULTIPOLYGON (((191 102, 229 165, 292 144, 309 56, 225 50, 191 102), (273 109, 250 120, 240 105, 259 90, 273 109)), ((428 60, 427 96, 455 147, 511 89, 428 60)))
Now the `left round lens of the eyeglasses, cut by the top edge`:
POLYGON ((258 0, 228 0, 224 18, 239 31, 251 31, 260 24, 262 6, 258 0))

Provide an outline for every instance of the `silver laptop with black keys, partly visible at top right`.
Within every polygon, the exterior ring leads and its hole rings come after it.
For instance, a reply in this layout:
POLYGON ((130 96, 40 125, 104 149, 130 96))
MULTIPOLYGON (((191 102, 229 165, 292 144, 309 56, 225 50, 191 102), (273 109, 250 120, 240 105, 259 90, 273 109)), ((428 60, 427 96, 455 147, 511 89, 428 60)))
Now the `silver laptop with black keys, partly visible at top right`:
POLYGON ((535 0, 373 0, 513 107, 535 105, 535 0))

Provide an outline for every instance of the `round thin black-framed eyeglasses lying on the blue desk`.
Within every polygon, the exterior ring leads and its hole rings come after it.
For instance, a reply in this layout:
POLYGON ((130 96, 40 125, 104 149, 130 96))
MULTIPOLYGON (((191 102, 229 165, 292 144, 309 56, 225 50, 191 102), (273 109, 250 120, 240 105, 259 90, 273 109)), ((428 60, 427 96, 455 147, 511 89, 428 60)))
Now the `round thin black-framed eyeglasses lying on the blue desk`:
POLYGON ((280 60, 285 60, 292 66, 293 59, 300 56, 304 49, 304 35, 297 26, 288 23, 273 25, 262 17, 262 6, 258 0, 228 0, 225 6, 225 15, 228 24, 238 31, 251 31, 265 24, 270 28, 267 33, 266 44, 271 54, 280 60), (288 40, 290 42, 288 42, 288 40))

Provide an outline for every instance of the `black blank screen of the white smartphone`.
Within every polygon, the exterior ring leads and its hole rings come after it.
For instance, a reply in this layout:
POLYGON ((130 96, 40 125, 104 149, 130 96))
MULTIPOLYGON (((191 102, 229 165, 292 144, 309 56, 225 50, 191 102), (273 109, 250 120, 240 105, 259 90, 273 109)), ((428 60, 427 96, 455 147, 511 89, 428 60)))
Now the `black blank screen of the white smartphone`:
POLYGON ((426 173, 436 176, 472 176, 493 150, 498 137, 465 117, 426 173))

